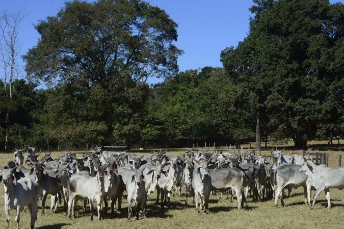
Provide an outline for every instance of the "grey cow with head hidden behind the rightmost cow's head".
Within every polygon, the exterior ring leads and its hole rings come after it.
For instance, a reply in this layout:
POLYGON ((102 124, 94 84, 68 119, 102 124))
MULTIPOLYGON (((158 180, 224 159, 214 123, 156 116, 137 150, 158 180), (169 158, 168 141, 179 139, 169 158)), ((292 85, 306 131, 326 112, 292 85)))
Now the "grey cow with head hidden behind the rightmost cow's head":
MULTIPOLYGON (((305 204, 307 204, 307 176, 300 172, 301 165, 284 163, 277 167, 275 171, 275 179, 277 182, 277 189, 275 193, 275 206, 277 207, 278 197, 281 199, 281 205, 284 206, 283 201, 283 190, 285 187, 288 188, 298 188, 303 187, 305 204)), ((310 192, 308 193, 310 198, 310 192)), ((308 199, 309 199, 308 198, 308 199)))

